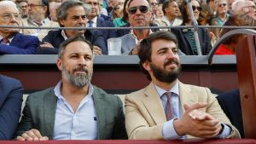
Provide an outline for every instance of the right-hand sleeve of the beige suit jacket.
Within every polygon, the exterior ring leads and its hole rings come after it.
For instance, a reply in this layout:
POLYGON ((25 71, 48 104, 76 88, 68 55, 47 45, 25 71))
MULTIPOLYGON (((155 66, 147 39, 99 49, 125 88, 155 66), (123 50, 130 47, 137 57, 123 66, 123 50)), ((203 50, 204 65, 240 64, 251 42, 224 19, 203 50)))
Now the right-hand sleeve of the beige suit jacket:
POLYGON ((207 107, 207 113, 209 113, 210 115, 212 115, 212 117, 214 118, 218 118, 219 121, 222 124, 225 124, 227 126, 230 126, 231 128, 231 133, 227 138, 240 138, 240 134, 238 132, 238 130, 236 130, 235 126, 233 126, 230 123, 230 119, 227 118, 227 116, 225 115, 225 113, 223 112, 223 110, 221 109, 221 107, 218 104, 218 100, 215 98, 214 95, 212 95, 210 89, 207 89, 207 103, 208 103, 208 107, 207 107))

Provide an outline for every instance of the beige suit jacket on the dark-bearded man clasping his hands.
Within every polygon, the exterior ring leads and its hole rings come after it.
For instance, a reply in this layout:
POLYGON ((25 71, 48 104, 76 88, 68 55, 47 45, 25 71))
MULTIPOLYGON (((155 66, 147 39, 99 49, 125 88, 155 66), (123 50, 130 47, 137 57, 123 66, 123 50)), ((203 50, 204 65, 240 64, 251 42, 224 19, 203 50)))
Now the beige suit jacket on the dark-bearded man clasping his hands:
MULTIPOLYGON (((219 118, 220 122, 232 128, 228 138, 239 138, 239 132, 230 124, 215 96, 210 89, 189 84, 179 83, 179 96, 181 106, 193 105, 197 102, 207 102, 207 107, 201 111, 219 118)), ((184 108, 182 109, 184 112, 184 108)), ((154 84, 125 96, 125 125, 129 139, 161 140, 163 125, 166 123, 166 114, 160 96, 154 84)), ((195 138, 187 135, 188 138, 195 138)))

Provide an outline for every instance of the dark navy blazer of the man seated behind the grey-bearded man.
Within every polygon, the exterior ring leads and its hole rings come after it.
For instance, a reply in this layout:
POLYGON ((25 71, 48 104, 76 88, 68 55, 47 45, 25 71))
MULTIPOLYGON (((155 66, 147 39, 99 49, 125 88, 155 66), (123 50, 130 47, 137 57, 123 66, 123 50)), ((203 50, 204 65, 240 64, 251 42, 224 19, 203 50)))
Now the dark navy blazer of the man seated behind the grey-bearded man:
MULTIPOLYGON (((92 44, 100 47, 102 49, 102 54, 107 55, 108 49, 101 32, 96 30, 86 30, 84 37, 92 44)), ((41 48, 39 46, 37 54, 39 55, 57 55, 58 49, 62 42, 64 42, 64 37, 61 35, 61 30, 59 31, 49 31, 48 34, 43 38, 42 43, 47 42, 53 45, 55 49, 41 48)))

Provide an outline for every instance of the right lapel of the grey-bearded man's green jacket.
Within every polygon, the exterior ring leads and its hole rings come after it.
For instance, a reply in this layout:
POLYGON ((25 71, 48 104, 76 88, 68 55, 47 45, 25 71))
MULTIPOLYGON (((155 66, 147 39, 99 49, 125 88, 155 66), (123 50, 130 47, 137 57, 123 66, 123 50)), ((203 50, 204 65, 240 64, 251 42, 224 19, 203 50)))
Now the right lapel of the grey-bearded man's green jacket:
POLYGON ((92 94, 95 108, 96 108, 96 116, 97 116, 97 123, 98 123, 98 139, 104 137, 104 107, 102 107, 102 95, 97 92, 96 87, 93 87, 93 94, 92 94))

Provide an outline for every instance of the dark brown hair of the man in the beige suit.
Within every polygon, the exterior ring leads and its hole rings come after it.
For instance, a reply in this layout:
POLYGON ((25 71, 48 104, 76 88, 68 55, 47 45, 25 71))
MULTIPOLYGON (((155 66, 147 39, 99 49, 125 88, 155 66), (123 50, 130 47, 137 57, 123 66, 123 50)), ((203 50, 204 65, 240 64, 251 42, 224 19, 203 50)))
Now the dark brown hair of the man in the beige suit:
MULTIPOLYGON (((149 37, 143 39, 140 43, 140 48, 138 49, 138 57, 140 58, 139 66, 143 70, 143 73, 147 75, 147 78, 151 80, 150 75, 147 70, 144 69, 143 63, 146 61, 151 61, 152 55, 152 43, 159 39, 165 39, 172 41, 177 45, 177 37, 172 32, 159 31, 154 32, 149 35, 149 37)), ((178 48, 178 45, 177 45, 178 48)))

